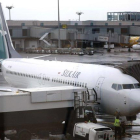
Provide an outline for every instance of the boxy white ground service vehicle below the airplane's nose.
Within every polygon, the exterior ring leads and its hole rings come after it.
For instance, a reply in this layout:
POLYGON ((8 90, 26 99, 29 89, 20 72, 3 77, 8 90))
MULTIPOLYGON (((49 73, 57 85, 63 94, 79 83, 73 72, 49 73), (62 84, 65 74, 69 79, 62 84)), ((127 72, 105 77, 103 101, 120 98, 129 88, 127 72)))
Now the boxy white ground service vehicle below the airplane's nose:
POLYGON ((74 138, 86 140, 114 140, 114 132, 111 128, 99 124, 87 122, 76 123, 73 129, 74 138))

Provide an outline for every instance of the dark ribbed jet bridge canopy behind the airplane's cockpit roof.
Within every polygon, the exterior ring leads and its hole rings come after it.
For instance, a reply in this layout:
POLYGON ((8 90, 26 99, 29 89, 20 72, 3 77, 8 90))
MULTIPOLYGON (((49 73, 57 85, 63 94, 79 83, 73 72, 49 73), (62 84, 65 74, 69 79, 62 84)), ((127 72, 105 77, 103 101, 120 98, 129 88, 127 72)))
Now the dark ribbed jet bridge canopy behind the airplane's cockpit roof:
POLYGON ((120 69, 124 74, 134 77, 140 83, 140 61, 122 63, 115 66, 115 68, 120 69))

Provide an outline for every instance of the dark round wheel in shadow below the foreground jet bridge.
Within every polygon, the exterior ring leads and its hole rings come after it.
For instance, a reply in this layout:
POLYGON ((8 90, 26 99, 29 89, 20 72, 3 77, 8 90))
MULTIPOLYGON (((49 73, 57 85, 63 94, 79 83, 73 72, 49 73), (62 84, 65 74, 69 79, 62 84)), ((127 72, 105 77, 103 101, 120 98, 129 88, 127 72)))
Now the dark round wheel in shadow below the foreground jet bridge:
POLYGON ((19 132, 18 140, 31 140, 31 133, 26 130, 19 132))

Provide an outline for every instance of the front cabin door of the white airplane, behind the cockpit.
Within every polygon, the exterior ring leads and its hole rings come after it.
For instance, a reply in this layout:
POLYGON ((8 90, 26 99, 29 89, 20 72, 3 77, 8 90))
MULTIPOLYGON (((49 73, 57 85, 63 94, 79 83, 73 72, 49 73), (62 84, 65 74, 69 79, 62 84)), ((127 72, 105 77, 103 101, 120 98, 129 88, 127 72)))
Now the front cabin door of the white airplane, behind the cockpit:
POLYGON ((96 83, 96 86, 95 86, 95 90, 97 92, 97 98, 98 99, 101 99, 101 87, 102 87, 102 84, 104 82, 104 77, 100 77, 96 83))

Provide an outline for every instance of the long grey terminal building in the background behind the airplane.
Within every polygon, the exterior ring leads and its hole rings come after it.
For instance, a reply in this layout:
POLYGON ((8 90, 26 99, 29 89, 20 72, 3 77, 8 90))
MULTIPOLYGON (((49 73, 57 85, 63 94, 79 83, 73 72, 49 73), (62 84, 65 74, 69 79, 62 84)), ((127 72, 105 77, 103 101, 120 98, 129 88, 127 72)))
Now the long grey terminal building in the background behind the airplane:
MULTIPOLYGON (((7 20, 7 23, 18 51, 58 47, 58 21, 7 20)), ((108 12, 106 21, 60 21, 61 47, 128 43, 130 36, 140 36, 140 12, 108 12), (108 41, 100 37, 108 37, 108 41)))

